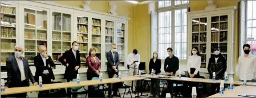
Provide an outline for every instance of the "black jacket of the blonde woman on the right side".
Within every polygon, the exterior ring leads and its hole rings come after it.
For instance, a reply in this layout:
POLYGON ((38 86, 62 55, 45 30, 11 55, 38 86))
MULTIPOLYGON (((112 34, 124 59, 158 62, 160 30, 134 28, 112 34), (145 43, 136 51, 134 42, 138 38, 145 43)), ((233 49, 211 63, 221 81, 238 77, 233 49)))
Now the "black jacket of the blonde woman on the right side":
POLYGON ((156 62, 154 62, 154 59, 151 58, 149 61, 149 74, 151 74, 152 69, 156 71, 155 74, 161 73, 161 59, 156 59, 156 62))

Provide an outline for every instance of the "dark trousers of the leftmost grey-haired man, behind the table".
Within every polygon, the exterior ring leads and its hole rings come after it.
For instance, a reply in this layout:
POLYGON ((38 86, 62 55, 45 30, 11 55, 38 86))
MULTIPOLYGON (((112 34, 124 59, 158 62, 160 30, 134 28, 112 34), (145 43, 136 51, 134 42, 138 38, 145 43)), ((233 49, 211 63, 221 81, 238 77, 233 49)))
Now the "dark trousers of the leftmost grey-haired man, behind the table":
MULTIPOLYGON (((29 82, 27 80, 23 80, 21 83, 17 84, 17 87, 29 87, 29 82)), ((26 97, 27 93, 18 93, 18 94, 13 94, 13 95, 7 95, 6 97, 26 97)))

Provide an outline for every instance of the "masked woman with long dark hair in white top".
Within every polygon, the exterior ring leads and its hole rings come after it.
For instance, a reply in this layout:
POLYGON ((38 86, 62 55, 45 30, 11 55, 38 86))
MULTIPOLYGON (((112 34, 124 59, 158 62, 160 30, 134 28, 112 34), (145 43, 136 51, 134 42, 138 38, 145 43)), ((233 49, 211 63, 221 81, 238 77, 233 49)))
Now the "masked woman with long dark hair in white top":
MULTIPOLYGON (((201 57, 200 52, 196 46, 191 50, 191 56, 188 57, 187 70, 189 73, 189 78, 200 78, 200 67, 201 67, 201 57)), ((189 91, 192 92, 192 87, 196 87, 198 90, 198 83, 188 83, 189 91)), ((189 94, 191 95, 191 93, 189 94)), ((191 97, 191 96, 188 96, 191 97)))

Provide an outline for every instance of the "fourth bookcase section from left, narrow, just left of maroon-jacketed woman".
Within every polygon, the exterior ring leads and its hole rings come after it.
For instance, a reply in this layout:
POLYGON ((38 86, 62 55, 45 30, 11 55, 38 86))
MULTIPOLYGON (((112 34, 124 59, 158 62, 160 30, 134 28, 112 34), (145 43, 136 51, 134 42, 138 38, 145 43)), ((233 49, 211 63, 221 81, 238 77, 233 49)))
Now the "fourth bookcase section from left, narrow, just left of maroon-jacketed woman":
POLYGON ((80 46, 80 60, 81 67, 86 64, 86 57, 88 57, 88 17, 86 16, 77 16, 77 38, 80 46))

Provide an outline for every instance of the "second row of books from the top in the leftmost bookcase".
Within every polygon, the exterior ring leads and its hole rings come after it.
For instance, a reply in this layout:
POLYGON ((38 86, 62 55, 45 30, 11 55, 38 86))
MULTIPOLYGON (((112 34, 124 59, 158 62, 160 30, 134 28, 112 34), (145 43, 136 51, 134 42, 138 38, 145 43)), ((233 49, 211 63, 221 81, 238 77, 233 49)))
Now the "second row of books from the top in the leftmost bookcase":
POLYGON ((6 25, 6 26, 16 26, 16 19, 15 17, 11 16, 5 16, 1 14, 1 25, 6 25))

